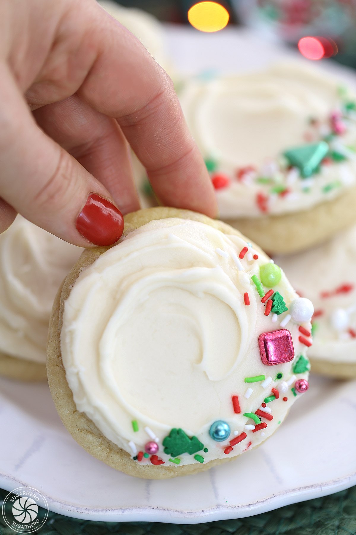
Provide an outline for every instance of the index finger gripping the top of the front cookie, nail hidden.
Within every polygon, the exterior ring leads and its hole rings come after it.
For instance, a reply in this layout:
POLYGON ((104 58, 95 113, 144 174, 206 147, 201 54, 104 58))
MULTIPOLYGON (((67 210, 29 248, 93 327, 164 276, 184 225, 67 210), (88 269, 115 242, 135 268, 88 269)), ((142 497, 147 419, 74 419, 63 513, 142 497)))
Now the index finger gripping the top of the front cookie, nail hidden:
POLYGON ((126 28, 109 16, 105 24, 78 95, 118 121, 163 204, 216 217, 213 186, 172 81, 126 28))

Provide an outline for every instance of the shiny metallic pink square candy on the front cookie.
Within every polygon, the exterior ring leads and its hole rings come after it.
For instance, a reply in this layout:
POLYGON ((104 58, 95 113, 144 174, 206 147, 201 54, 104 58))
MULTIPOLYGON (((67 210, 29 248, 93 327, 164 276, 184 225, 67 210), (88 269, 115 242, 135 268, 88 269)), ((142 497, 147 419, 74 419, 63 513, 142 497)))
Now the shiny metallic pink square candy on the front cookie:
POLYGON ((262 362, 269 366, 289 362, 294 358, 292 337, 287 329, 260 334, 258 345, 262 362))

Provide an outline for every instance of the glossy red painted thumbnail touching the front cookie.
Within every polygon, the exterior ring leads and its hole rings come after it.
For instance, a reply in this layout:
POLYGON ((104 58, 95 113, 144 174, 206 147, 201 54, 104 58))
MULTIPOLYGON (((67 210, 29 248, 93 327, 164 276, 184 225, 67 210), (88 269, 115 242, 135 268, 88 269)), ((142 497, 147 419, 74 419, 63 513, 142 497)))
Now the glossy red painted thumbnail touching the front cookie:
POLYGON ((94 245, 116 243, 124 230, 122 213, 106 199, 91 193, 75 221, 77 231, 94 245))

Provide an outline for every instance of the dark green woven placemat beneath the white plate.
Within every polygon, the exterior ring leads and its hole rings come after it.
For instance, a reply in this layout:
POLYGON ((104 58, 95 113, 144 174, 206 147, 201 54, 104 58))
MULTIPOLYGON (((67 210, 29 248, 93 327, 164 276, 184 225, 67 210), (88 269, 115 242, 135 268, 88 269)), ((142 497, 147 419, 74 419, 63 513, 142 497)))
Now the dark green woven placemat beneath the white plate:
MULTIPOLYGON (((7 492, 0 490, 0 507, 7 492)), ((262 515, 207 522, 161 524, 154 522, 89 522, 49 513, 38 535, 355 535, 356 487, 296 503, 262 515)), ((14 535, 0 514, 0 535, 14 535)))

